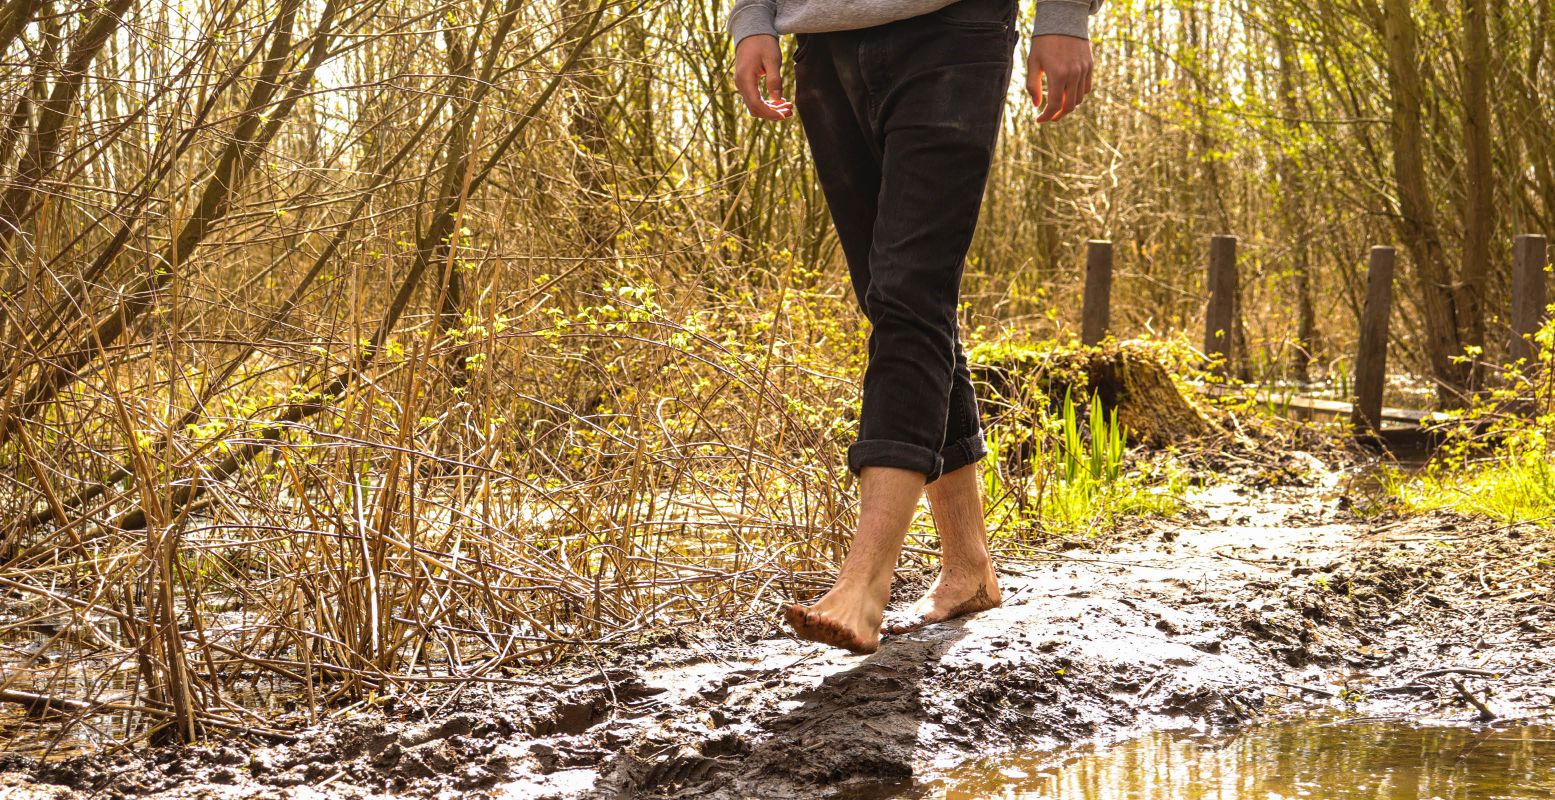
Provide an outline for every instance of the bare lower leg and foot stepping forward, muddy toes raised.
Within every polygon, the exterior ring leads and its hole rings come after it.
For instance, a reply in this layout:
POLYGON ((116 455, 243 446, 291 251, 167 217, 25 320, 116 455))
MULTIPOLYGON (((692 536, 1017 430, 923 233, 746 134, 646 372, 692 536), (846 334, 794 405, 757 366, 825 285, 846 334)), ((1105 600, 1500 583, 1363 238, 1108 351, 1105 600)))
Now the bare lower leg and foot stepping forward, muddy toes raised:
POLYGON ((880 618, 891 598, 891 576, 922 493, 921 472, 863 468, 858 475, 858 534, 832 590, 809 609, 798 604, 785 609, 784 618, 796 633, 852 652, 874 652, 880 646, 880 618))

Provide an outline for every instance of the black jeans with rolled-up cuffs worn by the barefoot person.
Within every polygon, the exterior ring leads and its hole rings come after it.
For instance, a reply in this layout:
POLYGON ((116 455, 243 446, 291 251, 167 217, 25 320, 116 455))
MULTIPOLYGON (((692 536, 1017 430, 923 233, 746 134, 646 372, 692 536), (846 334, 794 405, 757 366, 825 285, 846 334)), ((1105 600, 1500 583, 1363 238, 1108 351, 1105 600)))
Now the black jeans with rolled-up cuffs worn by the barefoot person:
POLYGON ((956 328, 1009 87, 1015 0, 801 34, 795 106, 869 319, 847 467, 935 481, 987 454, 956 328))

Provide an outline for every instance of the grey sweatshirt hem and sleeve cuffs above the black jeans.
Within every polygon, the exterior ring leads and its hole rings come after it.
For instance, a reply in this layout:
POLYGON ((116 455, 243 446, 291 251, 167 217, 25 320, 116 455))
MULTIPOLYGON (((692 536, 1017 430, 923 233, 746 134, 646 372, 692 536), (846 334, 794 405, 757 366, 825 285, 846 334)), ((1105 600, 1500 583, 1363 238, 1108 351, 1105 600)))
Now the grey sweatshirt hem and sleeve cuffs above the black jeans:
MULTIPOLYGON (((734 44, 757 33, 847 31, 885 25, 899 19, 928 14, 955 0, 734 0, 729 9, 729 36, 734 44)), ((1037 22, 1033 36, 1064 34, 1090 37, 1090 16, 1101 0, 1036 0, 1037 22)))

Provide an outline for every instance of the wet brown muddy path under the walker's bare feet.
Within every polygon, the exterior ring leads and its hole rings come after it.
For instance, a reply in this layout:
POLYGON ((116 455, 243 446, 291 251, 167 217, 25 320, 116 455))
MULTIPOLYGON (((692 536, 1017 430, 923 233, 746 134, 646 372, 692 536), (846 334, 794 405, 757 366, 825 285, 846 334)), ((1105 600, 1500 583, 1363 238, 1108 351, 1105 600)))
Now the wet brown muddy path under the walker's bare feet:
POLYGON ((1555 710, 1555 532, 1367 518, 1339 473, 1303 475, 1008 563, 1001 609, 869 657, 764 616, 288 744, 16 763, 0 797, 893 797, 967 758, 1152 728, 1555 710))

